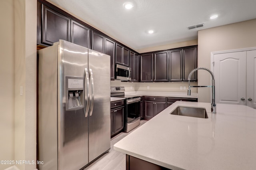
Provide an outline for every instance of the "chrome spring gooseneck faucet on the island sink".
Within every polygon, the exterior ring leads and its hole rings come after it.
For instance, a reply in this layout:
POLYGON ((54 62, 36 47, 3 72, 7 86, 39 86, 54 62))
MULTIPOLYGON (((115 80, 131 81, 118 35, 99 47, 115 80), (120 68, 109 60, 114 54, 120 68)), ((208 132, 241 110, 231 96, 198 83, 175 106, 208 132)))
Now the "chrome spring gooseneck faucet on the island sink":
POLYGON ((212 73, 212 71, 210 71, 209 69, 207 69, 207 68, 205 68, 205 67, 198 67, 198 68, 196 68, 196 69, 193 69, 193 70, 189 73, 189 75, 188 75, 188 96, 191 95, 191 89, 190 89, 191 87, 212 87, 212 104, 211 104, 211 111, 212 111, 213 113, 216 113, 216 103, 215 103, 215 79, 214 79, 214 74, 212 73), (210 85, 210 86, 190 86, 190 79, 191 79, 192 74, 193 74, 195 71, 200 70, 200 69, 206 70, 206 71, 208 71, 208 72, 211 74, 211 76, 212 76, 212 85, 210 85))

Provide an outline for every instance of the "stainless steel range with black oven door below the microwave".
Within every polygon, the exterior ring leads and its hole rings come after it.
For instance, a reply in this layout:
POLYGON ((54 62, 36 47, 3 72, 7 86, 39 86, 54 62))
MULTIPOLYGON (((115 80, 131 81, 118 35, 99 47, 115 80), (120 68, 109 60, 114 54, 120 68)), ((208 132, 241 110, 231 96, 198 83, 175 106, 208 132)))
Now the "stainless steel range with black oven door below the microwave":
POLYGON ((140 96, 125 95, 124 87, 110 87, 111 97, 125 98, 124 132, 129 132, 140 125, 140 96))

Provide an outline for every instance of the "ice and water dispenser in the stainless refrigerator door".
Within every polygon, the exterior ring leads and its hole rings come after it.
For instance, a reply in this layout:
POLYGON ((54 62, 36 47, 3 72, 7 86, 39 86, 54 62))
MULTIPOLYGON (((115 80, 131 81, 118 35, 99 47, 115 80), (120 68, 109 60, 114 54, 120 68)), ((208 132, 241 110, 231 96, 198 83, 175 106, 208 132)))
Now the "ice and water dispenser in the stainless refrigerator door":
POLYGON ((66 77, 66 111, 84 108, 84 77, 66 77))

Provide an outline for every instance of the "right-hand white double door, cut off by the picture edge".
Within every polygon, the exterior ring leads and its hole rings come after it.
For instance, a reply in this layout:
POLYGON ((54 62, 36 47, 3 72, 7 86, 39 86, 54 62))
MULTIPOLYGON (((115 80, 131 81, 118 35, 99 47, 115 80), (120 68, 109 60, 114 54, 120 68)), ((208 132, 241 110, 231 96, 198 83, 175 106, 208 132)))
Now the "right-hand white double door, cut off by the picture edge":
POLYGON ((256 50, 247 51, 246 105, 256 109, 256 50))

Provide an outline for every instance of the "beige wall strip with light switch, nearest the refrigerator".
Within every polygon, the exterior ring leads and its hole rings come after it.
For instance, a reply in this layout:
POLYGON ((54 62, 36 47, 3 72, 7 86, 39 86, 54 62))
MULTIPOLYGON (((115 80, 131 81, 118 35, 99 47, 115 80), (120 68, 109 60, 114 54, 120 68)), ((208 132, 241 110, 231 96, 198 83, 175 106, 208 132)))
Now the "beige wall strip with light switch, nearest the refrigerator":
MULTIPOLYGON (((36 7, 36 0, 14 1, 15 160, 36 161, 36 7)), ((36 169, 35 164, 16 166, 36 169)))

